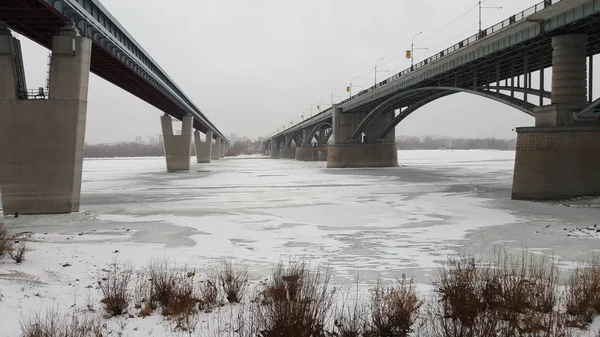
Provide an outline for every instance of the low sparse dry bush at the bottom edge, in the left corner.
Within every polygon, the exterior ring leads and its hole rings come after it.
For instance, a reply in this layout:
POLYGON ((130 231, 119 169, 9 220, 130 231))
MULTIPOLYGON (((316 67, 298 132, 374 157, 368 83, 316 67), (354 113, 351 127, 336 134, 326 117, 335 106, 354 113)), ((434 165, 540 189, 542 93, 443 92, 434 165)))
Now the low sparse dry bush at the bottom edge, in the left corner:
POLYGON ((103 322, 87 315, 63 315, 57 309, 36 313, 21 321, 23 337, 102 337, 103 322))

